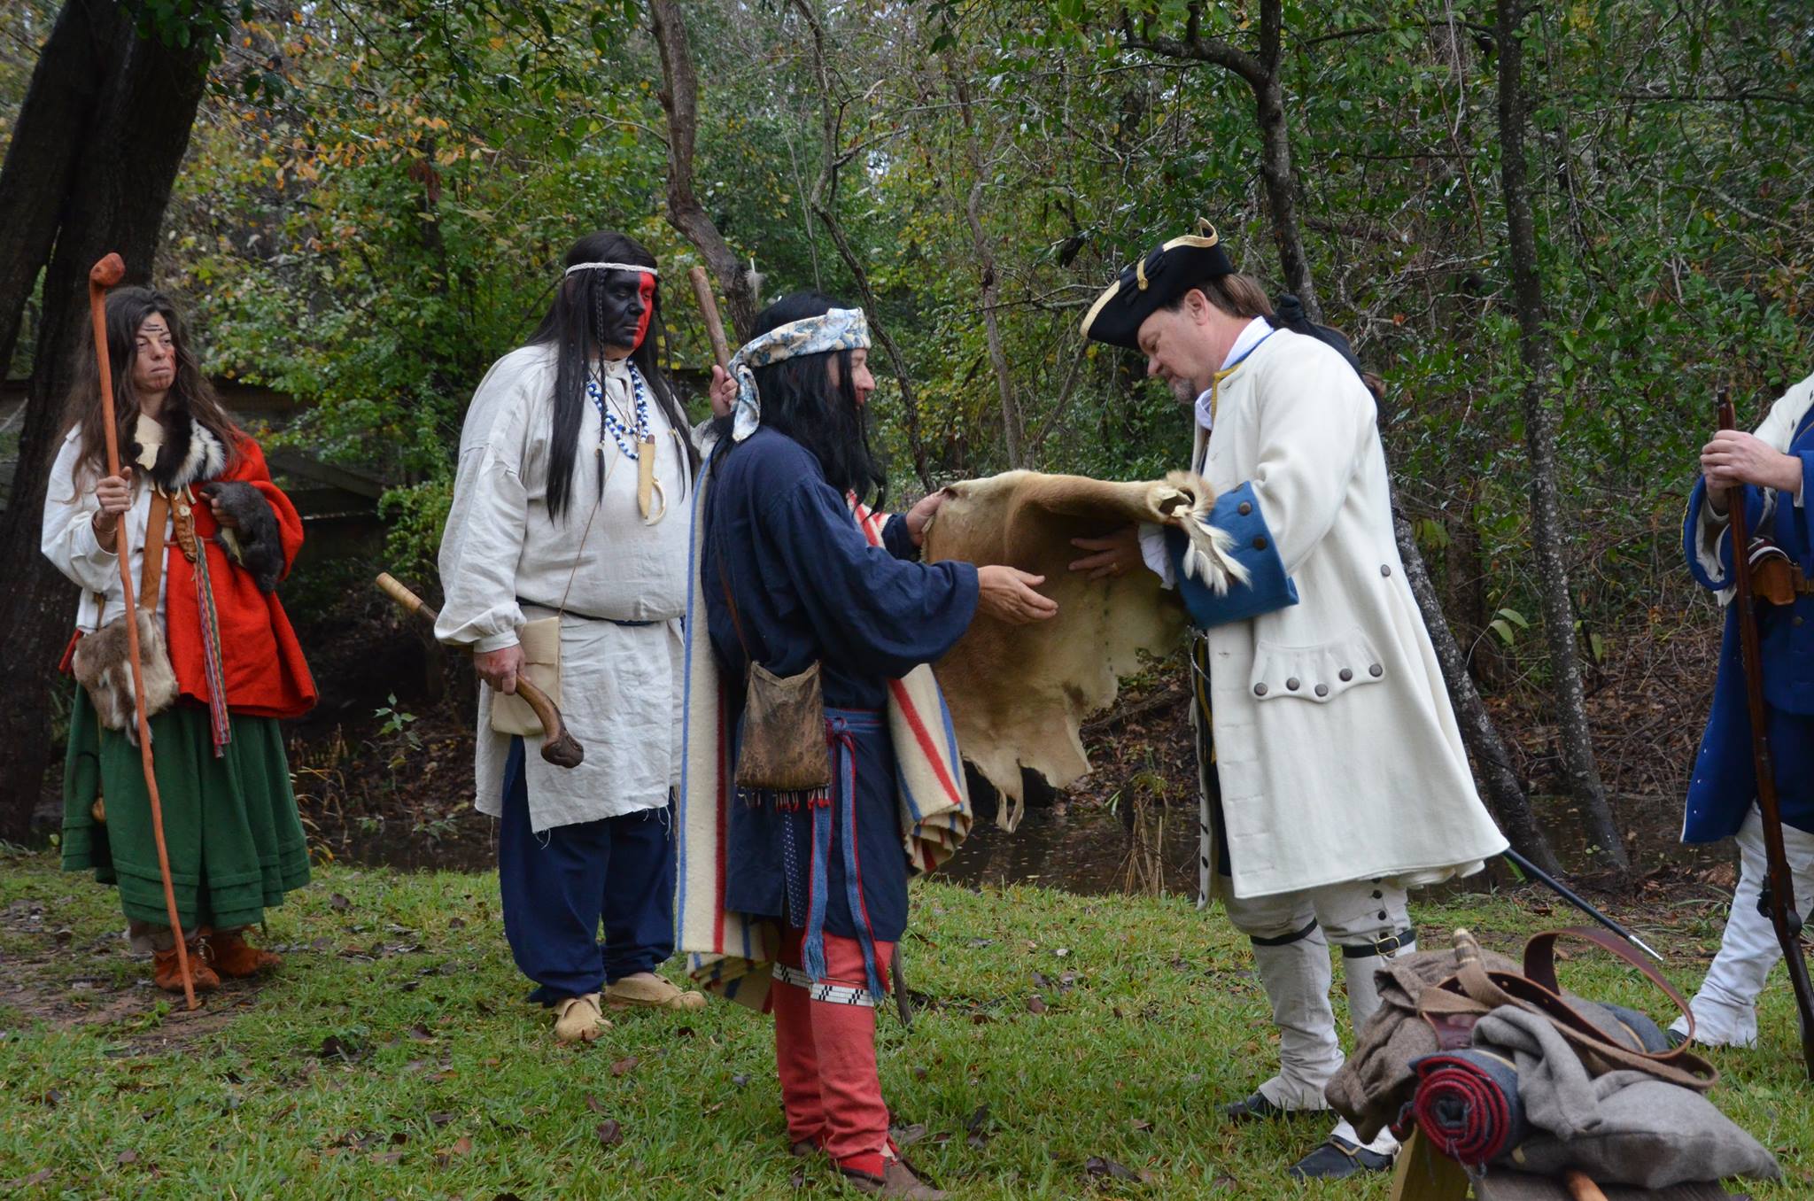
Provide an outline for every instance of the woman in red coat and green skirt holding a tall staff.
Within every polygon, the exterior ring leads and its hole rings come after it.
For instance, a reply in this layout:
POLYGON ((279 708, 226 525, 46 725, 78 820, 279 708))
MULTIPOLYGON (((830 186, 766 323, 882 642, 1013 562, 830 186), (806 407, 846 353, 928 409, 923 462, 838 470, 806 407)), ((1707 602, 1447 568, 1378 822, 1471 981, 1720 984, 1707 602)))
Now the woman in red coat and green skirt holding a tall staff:
POLYGON ((303 522, 258 443, 221 410, 167 296, 114 290, 107 348, 120 474, 107 474, 91 347, 44 501, 44 553, 82 588, 65 655, 82 688, 69 717, 63 869, 120 887, 134 947, 154 952, 160 987, 181 991, 136 746, 114 553, 123 522, 171 880, 203 991, 276 967, 241 931, 308 882, 278 729, 316 700, 276 595, 303 522))

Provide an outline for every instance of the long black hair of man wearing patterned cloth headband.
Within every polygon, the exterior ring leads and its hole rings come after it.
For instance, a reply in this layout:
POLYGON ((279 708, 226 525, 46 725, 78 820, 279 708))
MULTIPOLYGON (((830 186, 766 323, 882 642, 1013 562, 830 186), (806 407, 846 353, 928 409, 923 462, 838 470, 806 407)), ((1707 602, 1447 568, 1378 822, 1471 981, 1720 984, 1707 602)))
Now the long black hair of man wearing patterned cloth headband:
MULTIPOLYGON (((755 336, 847 307, 824 292, 793 292, 756 314, 755 336)), ((858 501, 880 508, 887 501, 889 481, 869 446, 869 417, 856 405, 851 374, 849 350, 802 354, 755 368, 762 425, 811 450, 833 488, 854 492, 858 501), (838 361, 836 383, 831 377, 833 359, 838 361)), ((718 419, 718 435, 729 437, 731 425, 731 417, 718 419)))

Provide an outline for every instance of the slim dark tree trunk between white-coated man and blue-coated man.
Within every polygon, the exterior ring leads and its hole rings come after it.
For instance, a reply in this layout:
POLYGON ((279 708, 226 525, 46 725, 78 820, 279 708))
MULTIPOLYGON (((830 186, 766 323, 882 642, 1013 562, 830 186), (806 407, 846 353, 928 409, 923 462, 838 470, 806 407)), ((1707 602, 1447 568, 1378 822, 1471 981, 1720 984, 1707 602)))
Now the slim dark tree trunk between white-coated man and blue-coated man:
POLYGON ((1595 764, 1587 729, 1587 697, 1582 689, 1575 646, 1575 611, 1569 600, 1569 570, 1564 562, 1562 501, 1556 490, 1556 428, 1549 412, 1549 341, 1544 332, 1544 285, 1536 269, 1536 221, 1524 158, 1524 45, 1518 25, 1520 0, 1498 0, 1498 147, 1500 183, 1506 192, 1506 239, 1511 258, 1513 301, 1518 308, 1518 359, 1524 368, 1524 437, 1531 457, 1531 546, 1544 606, 1544 640, 1555 673, 1556 727, 1562 740, 1564 776, 1569 795, 1587 816, 1589 833, 1620 874, 1631 858, 1613 820, 1605 786, 1595 764))

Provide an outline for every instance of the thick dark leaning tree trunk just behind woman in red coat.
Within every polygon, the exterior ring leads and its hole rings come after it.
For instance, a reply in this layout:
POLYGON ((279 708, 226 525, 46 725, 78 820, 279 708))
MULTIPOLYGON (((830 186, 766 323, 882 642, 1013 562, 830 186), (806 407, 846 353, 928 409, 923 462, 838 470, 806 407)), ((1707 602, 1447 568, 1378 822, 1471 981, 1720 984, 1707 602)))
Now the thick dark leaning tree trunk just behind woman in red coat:
MULTIPOLYGON (((205 40, 187 49, 141 40, 129 20, 118 20, 112 36, 96 45, 91 69, 105 87, 76 138, 78 161, 58 196, 56 254, 44 279, 44 321, 20 430, 18 474, 0 521, 0 562, 15 570, 11 586, 0 591, 0 662, 13 680, 0 709, 0 838, 20 842, 49 766, 49 695, 63 686, 54 666, 69 640, 74 604, 69 582, 38 552, 38 524, 74 356, 89 319, 89 267, 118 250, 127 263, 127 283, 151 279, 158 229, 189 147, 210 49, 205 40)), ((9 154, 7 172, 13 169, 9 154)))

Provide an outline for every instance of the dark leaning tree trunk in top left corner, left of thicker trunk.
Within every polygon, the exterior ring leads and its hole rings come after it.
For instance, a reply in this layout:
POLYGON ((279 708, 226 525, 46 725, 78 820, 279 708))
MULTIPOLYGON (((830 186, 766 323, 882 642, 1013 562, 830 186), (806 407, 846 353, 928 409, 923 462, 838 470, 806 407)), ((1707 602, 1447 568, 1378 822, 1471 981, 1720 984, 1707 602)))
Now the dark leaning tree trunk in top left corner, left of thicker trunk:
POLYGON ((13 361, 20 319, 56 243, 82 131, 100 96, 122 22, 116 5, 67 0, 38 51, 18 125, 0 167, 0 372, 13 361))

